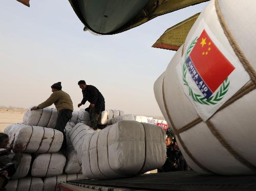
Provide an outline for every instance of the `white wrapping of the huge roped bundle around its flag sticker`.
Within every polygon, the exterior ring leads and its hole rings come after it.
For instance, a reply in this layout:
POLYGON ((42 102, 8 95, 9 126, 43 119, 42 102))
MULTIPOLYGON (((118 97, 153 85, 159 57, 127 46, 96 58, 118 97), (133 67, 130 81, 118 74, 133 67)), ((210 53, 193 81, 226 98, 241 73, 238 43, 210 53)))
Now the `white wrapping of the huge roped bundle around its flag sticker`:
MULTIPOLYGON (((256 1, 253 0, 210 1, 186 38, 184 47, 189 46, 194 32, 200 23, 205 22, 208 31, 213 33, 211 36, 221 42, 222 46, 218 47, 224 47, 225 56, 229 54, 239 62, 251 79, 210 119, 204 122, 184 94, 176 72, 182 47, 154 85, 159 107, 175 130, 186 162, 203 174, 256 174, 255 6, 256 1)), ((186 51, 184 48, 184 54, 186 51)), ((230 81, 230 89, 243 80, 237 79, 237 82, 230 81)))

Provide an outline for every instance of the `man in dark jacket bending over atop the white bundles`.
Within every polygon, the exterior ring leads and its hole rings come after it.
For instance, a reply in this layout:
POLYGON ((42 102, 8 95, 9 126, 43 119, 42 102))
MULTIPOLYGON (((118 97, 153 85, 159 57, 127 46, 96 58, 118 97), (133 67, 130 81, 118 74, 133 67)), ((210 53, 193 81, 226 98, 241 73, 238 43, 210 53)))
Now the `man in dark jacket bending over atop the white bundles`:
POLYGON ((83 99, 77 106, 78 108, 89 101, 91 104, 86 111, 90 114, 91 126, 94 130, 98 129, 98 119, 100 113, 105 110, 105 100, 100 91, 92 85, 87 85, 86 81, 78 81, 79 88, 82 89, 83 99))

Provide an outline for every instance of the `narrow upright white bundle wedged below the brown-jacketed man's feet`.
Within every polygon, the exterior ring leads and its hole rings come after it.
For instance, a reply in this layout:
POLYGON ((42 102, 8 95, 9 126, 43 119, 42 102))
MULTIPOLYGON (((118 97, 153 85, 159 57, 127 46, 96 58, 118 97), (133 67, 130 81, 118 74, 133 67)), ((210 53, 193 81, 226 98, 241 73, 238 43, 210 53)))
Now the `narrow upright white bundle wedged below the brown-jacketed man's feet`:
POLYGON ((76 151, 73 146, 68 146, 66 156, 66 165, 64 168, 64 172, 66 174, 79 174, 82 173, 81 165, 79 164, 76 151))

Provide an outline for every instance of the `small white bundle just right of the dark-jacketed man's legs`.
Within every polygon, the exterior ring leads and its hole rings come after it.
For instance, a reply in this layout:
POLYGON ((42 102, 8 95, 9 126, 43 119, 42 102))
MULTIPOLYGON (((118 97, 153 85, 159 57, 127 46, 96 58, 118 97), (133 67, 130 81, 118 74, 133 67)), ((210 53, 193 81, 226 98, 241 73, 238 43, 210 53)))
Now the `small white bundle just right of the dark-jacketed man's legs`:
POLYGON ((98 120, 100 125, 109 125, 112 124, 112 119, 117 116, 124 115, 123 111, 120 110, 105 110, 101 112, 98 120))

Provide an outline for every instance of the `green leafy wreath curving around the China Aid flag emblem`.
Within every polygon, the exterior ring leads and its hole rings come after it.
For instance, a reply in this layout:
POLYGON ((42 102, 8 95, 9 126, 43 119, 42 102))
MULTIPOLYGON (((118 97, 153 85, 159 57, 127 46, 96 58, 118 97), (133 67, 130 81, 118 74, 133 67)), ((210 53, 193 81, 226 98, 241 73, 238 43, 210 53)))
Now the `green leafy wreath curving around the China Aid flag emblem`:
POLYGON ((200 94, 196 94, 193 92, 193 90, 189 87, 187 80, 186 80, 186 74, 187 74, 186 59, 189 56, 189 53, 191 52, 193 47, 196 45, 197 40, 198 40, 198 37, 196 37, 192 41, 192 43, 190 44, 190 46, 188 47, 188 49, 186 51, 185 60, 183 63, 183 82, 184 82, 184 85, 188 87, 189 95, 194 99, 194 101, 201 103, 201 104, 214 105, 214 104, 217 104, 227 93, 228 87, 229 87, 229 80, 228 80, 228 78, 226 78, 223 81, 223 83, 221 84, 221 87, 219 88, 218 92, 215 95, 212 95, 211 97, 209 97, 208 99, 206 99, 206 97, 204 97, 200 94))

